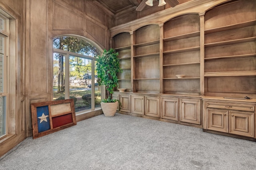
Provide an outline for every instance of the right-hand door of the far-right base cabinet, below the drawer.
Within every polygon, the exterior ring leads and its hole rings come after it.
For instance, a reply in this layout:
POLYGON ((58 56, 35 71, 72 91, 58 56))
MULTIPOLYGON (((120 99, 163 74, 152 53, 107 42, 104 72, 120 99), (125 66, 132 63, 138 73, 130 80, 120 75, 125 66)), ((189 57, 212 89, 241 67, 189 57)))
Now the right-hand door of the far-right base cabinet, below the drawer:
POLYGON ((229 133, 254 137, 254 113, 229 111, 229 133))

